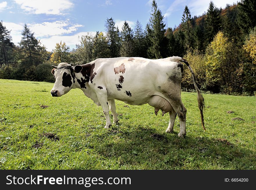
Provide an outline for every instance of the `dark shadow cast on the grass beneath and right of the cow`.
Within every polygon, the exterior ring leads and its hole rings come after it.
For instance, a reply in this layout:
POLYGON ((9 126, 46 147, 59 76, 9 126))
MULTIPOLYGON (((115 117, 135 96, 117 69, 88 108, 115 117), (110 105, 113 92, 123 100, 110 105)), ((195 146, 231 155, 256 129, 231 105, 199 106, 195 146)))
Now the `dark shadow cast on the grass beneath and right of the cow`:
MULTIPOLYGON (((226 139, 158 134, 155 129, 125 131, 112 127, 115 140, 96 147, 97 154, 139 169, 255 169, 254 151, 226 139), (138 166, 138 167, 137 167, 138 166)), ((113 138, 111 138, 113 139, 113 138)))

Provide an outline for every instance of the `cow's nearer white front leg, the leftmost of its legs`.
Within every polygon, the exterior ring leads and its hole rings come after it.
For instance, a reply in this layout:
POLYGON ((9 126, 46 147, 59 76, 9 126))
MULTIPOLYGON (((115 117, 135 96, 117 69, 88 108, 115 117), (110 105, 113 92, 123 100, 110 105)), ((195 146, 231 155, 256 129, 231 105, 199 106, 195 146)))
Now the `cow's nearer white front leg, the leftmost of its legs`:
POLYGON ((111 121, 109 117, 109 105, 108 105, 108 98, 107 98, 107 91, 101 89, 100 92, 97 93, 97 97, 99 99, 99 103, 102 106, 103 113, 106 117, 106 125, 105 129, 108 129, 111 126, 111 121))

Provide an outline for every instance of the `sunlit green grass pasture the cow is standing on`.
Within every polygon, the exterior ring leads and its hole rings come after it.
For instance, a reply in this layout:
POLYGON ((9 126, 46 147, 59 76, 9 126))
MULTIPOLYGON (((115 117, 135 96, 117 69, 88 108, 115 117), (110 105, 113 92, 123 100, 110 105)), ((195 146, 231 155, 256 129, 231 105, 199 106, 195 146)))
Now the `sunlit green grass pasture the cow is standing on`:
POLYGON ((169 115, 149 105, 116 101, 119 124, 104 129, 80 89, 52 97, 52 87, 0 79, 0 169, 256 169, 255 96, 203 94, 204 131, 196 94, 182 92, 181 139, 178 118, 167 134, 169 115))

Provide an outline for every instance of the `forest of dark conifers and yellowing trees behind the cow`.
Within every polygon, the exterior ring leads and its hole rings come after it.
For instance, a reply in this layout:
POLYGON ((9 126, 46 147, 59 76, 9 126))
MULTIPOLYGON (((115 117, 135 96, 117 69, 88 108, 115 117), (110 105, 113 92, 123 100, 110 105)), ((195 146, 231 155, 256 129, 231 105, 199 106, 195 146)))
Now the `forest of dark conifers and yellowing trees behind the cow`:
MULTIPOLYGON (((25 24, 22 39, 15 45, 10 30, 0 22, 0 78, 54 82, 51 65, 61 62, 86 64, 97 58, 144 57, 160 59, 180 56, 194 70, 196 81, 205 93, 256 96, 256 1, 217 8, 209 3, 205 14, 191 16, 188 6, 182 22, 167 28, 161 10, 152 1, 150 19, 143 28, 137 20, 122 28, 106 18, 105 31, 81 36, 75 49, 64 41, 52 52, 25 24)), ((184 65, 182 89, 193 91, 193 80, 184 65)))

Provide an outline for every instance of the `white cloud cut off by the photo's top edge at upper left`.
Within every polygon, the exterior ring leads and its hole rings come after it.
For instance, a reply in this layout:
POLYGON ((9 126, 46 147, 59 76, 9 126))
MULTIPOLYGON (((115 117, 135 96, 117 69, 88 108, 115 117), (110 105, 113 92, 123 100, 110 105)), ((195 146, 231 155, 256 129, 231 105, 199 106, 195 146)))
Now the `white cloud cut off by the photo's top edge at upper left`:
POLYGON ((23 10, 32 14, 65 14, 73 6, 69 0, 15 0, 23 10))

